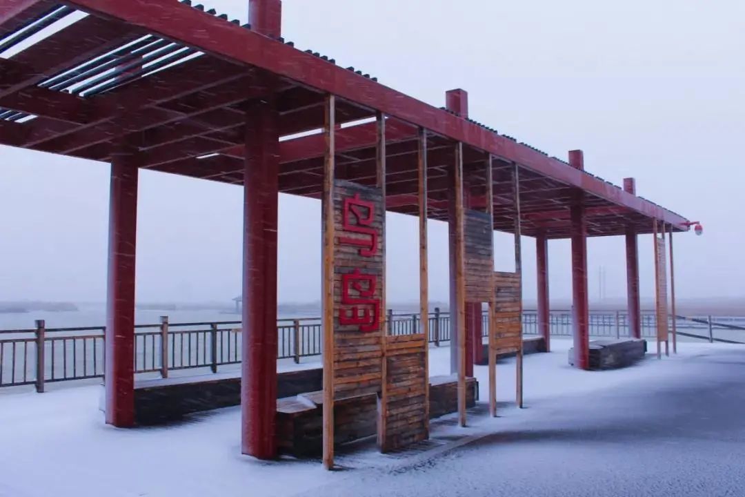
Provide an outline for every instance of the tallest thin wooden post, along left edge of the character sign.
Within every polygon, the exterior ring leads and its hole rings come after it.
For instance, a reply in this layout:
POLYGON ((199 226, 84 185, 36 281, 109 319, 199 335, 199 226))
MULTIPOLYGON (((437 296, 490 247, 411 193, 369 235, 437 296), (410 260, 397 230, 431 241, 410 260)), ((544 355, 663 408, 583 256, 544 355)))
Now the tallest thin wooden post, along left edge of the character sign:
POLYGON ((326 95, 323 135, 326 157, 323 161, 323 466, 334 467, 334 95, 326 95))

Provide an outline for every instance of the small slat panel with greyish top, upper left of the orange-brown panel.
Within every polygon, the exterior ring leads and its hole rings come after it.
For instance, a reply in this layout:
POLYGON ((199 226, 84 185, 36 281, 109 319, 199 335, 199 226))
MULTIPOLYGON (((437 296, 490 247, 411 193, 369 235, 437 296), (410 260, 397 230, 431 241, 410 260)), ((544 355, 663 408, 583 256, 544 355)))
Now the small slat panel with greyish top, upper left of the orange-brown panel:
POLYGON ((466 302, 489 302, 492 297, 492 217, 488 212, 466 209, 466 302))

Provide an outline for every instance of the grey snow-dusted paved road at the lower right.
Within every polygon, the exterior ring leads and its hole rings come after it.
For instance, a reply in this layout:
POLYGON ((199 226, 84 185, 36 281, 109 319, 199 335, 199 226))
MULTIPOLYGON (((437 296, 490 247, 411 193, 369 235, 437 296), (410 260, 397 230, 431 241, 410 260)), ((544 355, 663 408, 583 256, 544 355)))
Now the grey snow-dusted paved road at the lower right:
POLYGON ((676 361, 664 382, 544 402, 468 446, 308 495, 745 496, 745 349, 676 361))

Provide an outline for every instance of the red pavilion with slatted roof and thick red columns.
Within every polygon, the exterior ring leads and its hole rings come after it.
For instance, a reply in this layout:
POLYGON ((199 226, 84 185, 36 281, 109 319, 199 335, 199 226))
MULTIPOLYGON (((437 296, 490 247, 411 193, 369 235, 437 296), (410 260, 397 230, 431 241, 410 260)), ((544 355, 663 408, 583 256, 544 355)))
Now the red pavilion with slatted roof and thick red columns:
MULTIPOLYGON (((333 224, 335 177, 378 186, 387 210, 448 221, 456 329, 472 328, 469 315, 481 313, 480 304, 466 303, 457 269, 463 209, 486 210, 495 230, 536 238, 547 341, 547 241, 571 238, 576 364, 585 368, 586 237, 624 235, 630 324, 640 335, 637 235, 686 231, 685 218, 637 197, 633 179, 621 189, 589 174, 581 151, 565 162, 470 120, 463 90, 448 92, 446 107, 432 107, 301 51, 281 37, 280 0, 249 3, 250 25, 240 25, 188 1, 0 0, 0 143, 111 163, 107 422, 134 422, 139 169, 244 187, 246 454, 276 454, 279 192, 322 199, 333 224)), ((328 283, 333 237, 325 243, 328 283)), ((326 338, 331 291, 327 284, 326 338)), ((458 332, 454 341, 467 336, 458 332)), ((458 355, 464 346, 453 347, 461 375, 472 361, 458 355)))

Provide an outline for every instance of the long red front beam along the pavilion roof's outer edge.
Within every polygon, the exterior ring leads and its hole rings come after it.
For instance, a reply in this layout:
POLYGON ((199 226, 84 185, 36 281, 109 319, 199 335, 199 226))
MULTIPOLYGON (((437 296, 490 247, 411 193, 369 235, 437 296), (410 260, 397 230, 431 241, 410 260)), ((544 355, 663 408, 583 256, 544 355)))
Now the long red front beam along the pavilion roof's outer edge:
POLYGON ((218 57, 258 66, 322 92, 329 92, 370 109, 380 110, 382 113, 425 127, 455 141, 517 162, 524 168, 562 183, 577 186, 612 203, 661 219, 679 229, 686 229, 685 218, 647 200, 627 194, 583 171, 569 168, 558 159, 549 158, 477 124, 438 110, 311 54, 305 54, 222 19, 204 16, 203 13, 184 4, 169 0, 66 0, 65 3, 145 27, 164 37, 197 47, 218 57))

